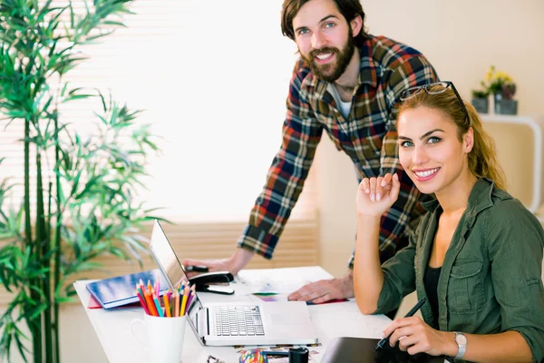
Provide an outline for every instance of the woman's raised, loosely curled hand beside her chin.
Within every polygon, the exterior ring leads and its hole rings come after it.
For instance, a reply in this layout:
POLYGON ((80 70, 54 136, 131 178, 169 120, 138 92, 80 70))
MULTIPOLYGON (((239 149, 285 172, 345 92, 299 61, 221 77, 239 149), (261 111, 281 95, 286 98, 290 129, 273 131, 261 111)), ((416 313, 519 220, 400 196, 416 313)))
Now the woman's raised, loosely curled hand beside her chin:
POLYGON ((397 174, 378 178, 364 178, 357 191, 357 215, 380 217, 388 211, 399 196, 401 182, 397 174))

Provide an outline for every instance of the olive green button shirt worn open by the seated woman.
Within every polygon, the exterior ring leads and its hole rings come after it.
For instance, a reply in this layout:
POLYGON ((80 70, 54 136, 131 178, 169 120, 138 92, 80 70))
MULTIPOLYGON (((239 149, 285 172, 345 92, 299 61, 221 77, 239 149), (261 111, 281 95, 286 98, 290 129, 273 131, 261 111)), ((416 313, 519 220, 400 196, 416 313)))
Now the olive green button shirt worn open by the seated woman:
MULTIPOLYGON (((428 213, 410 243, 382 266, 384 288, 376 313, 396 309, 417 291, 426 298, 423 275, 442 208, 427 201, 428 213)), ((506 191, 487 179, 472 188, 446 251, 438 280, 438 327, 428 299, 423 319, 434 329, 471 334, 516 330, 535 362, 544 358, 544 231, 539 221, 506 191)))

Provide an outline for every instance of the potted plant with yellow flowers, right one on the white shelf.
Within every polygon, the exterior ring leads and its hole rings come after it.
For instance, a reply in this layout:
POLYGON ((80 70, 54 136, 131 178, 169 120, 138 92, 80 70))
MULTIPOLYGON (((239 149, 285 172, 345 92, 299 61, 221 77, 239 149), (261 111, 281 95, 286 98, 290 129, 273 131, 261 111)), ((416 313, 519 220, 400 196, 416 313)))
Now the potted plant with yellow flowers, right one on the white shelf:
POLYGON ((487 89, 493 94, 495 113, 517 114, 518 101, 514 100, 516 83, 512 77, 502 71, 497 71, 491 65, 486 74, 487 89))

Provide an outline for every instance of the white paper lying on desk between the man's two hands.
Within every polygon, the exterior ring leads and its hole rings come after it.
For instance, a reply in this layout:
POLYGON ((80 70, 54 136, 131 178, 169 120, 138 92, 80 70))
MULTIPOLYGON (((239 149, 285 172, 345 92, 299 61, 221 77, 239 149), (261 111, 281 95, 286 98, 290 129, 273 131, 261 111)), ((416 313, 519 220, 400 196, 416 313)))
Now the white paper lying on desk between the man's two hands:
POLYGON ((320 266, 308 266, 241 270, 235 281, 248 294, 289 294, 307 283, 329 279, 333 279, 333 276, 320 266))

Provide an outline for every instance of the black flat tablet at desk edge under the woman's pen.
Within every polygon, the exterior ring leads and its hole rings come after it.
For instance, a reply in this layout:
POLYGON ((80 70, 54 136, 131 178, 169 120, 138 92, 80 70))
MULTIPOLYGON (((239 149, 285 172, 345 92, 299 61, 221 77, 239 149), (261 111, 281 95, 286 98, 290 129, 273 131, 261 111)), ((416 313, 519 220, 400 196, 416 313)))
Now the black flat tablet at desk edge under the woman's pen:
POLYGON ((339 337, 330 341, 321 363, 444 363, 444 357, 432 357, 424 353, 411 356, 399 348, 387 344, 375 351, 380 339, 339 337))

